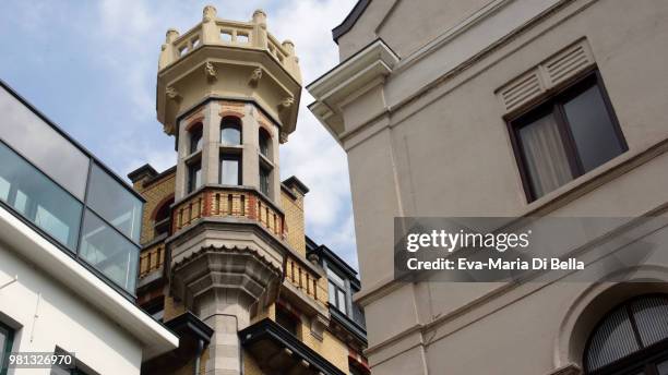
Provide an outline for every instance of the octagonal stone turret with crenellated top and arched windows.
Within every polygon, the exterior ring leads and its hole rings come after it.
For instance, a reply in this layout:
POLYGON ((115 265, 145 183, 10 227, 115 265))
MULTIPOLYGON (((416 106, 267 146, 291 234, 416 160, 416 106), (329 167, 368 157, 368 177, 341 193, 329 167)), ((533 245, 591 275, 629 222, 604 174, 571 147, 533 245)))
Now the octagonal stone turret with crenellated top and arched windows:
POLYGON ((178 152, 169 292, 215 330, 207 374, 239 373, 237 331, 283 281, 278 145, 295 130, 300 81, 293 43, 267 33, 261 10, 236 22, 208 5, 162 46, 157 118, 178 152))

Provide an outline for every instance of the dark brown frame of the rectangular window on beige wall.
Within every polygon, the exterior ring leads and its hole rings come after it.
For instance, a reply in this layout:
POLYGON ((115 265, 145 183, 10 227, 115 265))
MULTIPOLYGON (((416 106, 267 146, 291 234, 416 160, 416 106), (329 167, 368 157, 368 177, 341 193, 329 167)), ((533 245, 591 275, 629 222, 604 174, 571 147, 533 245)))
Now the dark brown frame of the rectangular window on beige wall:
MULTIPOLYGON (((575 138, 573 137, 571 125, 566 120, 566 114, 563 109, 563 105, 569 100, 583 94, 586 89, 591 87, 597 87, 598 92, 600 93, 605 110, 612 124, 612 130, 615 132, 615 135, 617 136, 618 142, 620 143, 621 153, 619 155, 622 155, 629 150, 629 145, 627 144, 627 140, 621 130, 619 120, 617 119, 617 114, 615 112, 615 109, 612 108, 612 102, 610 101, 610 98, 608 96, 608 92, 603 82, 600 72, 596 66, 584 71, 583 73, 570 80, 569 83, 566 83, 561 89, 558 89, 551 95, 544 97, 542 100, 532 105, 526 110, 517 114, 504 118, 508 128, 508 133, 510 134, 513 155, 517 164, 520 178, 522 180, 522 186, 524 189, 527 203, 535 202, 541 198, 542 196, 549 195, 550 193, 548 192, 540 196, 536 194, 528 172, 528 165, 525 158, 526 154, 520 138, 520 130, 526 125, 534 123, 536 120, 545 116, 551 114, 554 119, 554 123, 558 128, 559 134, 561 135, 564 153, 569 160, 569 168, 571 170, 571 174, 573 176, 573 179, 570 181, 576 180, 577 178, 586 174, 587 172, 584 170, 581 157, 577 153, 575 138)), ((619 157, 619 155, 617 157, 619 157)))

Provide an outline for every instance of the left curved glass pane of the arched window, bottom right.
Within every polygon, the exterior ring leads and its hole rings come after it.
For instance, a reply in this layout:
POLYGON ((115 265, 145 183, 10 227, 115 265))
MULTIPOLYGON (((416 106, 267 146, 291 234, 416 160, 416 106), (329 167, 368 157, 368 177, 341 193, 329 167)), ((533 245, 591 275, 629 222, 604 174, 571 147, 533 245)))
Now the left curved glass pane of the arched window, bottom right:
POLYGON ((600 368, 639 350, 627 310, 618 309, 594 332, 587 370, 600 368))

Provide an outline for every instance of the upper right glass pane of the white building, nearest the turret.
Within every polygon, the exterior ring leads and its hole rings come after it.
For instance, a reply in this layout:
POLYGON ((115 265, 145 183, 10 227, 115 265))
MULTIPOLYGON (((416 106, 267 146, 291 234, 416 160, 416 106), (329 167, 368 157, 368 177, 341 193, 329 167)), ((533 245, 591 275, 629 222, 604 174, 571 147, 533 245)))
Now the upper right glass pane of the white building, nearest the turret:
POLYGON ((139 241, 142 202, 97 165, 91 170, 86 204, 130 239, 139 241))

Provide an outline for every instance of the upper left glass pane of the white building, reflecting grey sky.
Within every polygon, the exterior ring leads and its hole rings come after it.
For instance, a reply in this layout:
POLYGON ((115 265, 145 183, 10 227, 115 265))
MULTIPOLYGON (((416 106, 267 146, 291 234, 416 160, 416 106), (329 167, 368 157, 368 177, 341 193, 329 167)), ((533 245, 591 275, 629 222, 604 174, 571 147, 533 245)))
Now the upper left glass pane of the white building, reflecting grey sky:
POLYGON ((0 138, 83 201, 88 157, 3 87, 0 113, 0 138))

